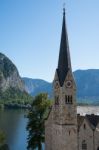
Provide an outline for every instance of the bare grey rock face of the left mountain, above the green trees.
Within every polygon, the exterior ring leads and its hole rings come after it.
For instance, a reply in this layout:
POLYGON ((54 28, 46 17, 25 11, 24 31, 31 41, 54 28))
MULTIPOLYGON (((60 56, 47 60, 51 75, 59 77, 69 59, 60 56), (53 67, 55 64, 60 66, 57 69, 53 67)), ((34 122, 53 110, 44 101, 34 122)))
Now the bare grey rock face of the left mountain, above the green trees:
POLYGON ((24 83, 16 66, 9 58, 0 53, 0 91, 5 92, 9 88, 25 91, 24 83))

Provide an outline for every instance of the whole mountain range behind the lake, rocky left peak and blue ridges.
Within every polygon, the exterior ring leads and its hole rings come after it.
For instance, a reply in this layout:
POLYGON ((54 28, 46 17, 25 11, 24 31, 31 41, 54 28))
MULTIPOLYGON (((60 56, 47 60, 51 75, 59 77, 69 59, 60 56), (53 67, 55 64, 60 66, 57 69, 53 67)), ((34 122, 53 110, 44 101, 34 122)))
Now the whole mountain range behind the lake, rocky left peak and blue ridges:
MULTIPOLYGON (((77 101, 79 103, 99 104, 99 69, 76 70, 74 77, 77 85, 77 101)), ((35 96, 46 92, 53 98, 53 85, 42 79, 21 78, 13 62, 0 53, 0 103, 2 101, 18 101, 28 103, 27 92, 35 96)))

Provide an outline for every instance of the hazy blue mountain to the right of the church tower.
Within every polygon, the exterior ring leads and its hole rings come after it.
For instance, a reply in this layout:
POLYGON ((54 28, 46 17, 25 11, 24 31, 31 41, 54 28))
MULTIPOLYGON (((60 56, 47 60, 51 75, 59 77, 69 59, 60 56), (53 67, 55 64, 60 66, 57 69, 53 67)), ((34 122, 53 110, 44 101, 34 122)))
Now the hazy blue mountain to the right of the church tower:
POLYGON ((78 101, 99 104, 99 69, 77 70, 74 77, 78 101))

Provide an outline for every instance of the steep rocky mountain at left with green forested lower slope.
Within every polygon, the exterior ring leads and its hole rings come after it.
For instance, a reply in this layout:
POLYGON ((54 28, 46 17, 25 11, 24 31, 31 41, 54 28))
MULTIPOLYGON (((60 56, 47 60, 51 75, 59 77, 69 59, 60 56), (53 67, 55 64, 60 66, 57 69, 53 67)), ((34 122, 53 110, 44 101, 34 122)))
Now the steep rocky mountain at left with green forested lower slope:
POLYGON ((16 66, 7 56, 0 53, 0 103, 23 103, 27 99, 29 94, 16 66))

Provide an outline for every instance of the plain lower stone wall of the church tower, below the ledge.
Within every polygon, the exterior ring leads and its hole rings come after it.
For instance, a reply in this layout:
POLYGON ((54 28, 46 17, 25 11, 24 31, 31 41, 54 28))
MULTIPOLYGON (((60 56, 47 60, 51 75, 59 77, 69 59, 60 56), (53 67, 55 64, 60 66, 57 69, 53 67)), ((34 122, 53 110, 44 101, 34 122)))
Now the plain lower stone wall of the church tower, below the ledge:
POLYGON ((52 150, 77 150, 76 126, 53 124, 52 150))

